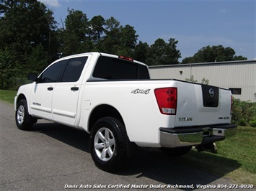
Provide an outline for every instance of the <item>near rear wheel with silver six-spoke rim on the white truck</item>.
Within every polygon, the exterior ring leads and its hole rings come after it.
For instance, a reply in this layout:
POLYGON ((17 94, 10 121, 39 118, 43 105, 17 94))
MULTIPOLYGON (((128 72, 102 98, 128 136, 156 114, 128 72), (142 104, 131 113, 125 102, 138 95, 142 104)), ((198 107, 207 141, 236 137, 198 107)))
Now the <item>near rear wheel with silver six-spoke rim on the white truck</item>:
POLYGON ((116 118, 104 117, 94 124, 90 134, 90 152, 97 167, 106 172, 122 169, 127 161, 128 137, 116 118))

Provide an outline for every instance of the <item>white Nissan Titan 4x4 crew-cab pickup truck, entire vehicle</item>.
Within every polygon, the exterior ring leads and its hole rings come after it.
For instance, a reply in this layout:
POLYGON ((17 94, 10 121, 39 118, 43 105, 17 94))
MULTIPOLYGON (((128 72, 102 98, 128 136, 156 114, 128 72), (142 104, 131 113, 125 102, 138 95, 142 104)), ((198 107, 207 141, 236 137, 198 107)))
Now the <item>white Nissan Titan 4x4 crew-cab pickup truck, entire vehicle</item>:
POLYGON ((148 67, 128 57, 90 52, 50 64, 14 100, 16 124, 28 130, 44 118, 84 129, 100 169, 123 167, 137 146, 182 155, 233 134, 229 90, 181 80, 150 80, 148 67))

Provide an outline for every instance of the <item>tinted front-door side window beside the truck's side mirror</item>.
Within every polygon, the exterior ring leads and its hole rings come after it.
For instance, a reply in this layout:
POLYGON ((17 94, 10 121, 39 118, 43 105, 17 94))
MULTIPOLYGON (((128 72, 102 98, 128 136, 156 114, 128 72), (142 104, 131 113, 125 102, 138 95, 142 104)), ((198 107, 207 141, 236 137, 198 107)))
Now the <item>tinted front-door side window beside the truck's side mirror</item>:
POLYGON ((61 73, 66 66, 68 60, 62 60, 48 67, 40 76, 40 83, 56 83, 61 77, 61 73))

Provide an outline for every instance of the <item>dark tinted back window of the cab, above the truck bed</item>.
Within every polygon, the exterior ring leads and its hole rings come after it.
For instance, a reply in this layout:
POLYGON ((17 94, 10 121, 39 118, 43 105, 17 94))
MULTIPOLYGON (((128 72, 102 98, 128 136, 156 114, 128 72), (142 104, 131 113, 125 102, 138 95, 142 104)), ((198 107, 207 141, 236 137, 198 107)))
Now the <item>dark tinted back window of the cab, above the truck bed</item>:
POLYGON ((101 56, 97 61, 92 76, 108 80, 149 79, 149 71, 146 66, 128 60, 101 56))

